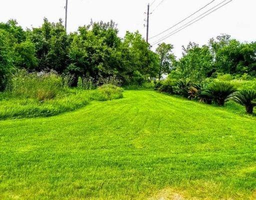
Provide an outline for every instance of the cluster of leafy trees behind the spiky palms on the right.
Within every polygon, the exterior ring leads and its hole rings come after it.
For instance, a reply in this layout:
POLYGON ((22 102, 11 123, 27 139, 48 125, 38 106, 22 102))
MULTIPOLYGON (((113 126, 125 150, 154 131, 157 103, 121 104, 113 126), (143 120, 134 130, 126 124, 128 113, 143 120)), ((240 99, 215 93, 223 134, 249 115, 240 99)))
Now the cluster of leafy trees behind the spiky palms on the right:
POLYGON ((172 67, 170 77, 193 82, 219 74, 253 77, 256 76, 256 42, 242 43, 225 34, 211 38, 203 46, 190 42, 183 46, 182 57, 172 67))

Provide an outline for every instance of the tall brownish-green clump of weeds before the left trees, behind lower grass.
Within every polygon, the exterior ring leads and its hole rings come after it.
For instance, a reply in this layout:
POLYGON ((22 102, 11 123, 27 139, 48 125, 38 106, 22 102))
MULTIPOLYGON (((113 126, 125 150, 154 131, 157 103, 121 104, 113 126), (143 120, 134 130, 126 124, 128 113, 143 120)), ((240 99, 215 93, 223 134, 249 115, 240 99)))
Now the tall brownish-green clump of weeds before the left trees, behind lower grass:
POLYGON ((19 70, 8 82, 7 92, 19 98, 52 99, 63 92, 63 81, 54 72, 28 73, 19 70))

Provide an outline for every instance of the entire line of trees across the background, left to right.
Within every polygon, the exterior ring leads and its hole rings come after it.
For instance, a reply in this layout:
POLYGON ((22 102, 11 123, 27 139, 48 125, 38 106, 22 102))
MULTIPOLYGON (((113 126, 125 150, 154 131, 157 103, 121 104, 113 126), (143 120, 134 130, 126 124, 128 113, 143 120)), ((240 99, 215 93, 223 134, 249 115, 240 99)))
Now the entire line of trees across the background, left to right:
POLYGON ((74 84, 78 77, 94 81, 115 77, 122 85, 141 85, 163 73, 193 82, 218 73, 256 75, 256 42, 223 34, 202 46, 189 42, 179 59, 172 49, 173 45, 161 43, 152 51, 138 31, 127 31, 121 38, 113 21, 91 21, 66 33, 61 19, 52 23, 44 18, 40 27, 25 30, 9 20, 0 23, 0 90, 20 68, 70 74, 74 84))

